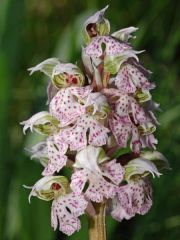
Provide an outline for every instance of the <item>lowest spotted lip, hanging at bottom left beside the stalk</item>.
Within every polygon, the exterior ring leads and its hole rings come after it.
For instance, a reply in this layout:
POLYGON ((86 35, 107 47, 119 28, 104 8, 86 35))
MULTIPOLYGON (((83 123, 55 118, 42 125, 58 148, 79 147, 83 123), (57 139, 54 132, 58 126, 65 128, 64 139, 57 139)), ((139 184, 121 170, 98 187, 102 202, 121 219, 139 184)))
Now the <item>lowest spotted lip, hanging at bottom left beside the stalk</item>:
POLYGON ((59 223, 59 230, 70 236, 81 227, 77 218, 82 215, 87 207, 87 201, 83 196, 74 193, 60 196, 52 203, 51 226, 56 230, 59 223))

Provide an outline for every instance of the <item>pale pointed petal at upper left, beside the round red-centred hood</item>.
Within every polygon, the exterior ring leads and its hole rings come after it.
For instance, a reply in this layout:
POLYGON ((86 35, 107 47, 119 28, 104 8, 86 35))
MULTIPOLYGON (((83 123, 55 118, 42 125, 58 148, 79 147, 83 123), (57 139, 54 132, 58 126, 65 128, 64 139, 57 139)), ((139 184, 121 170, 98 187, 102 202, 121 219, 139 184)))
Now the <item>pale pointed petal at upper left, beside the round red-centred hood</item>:
POLYGON ((46 74, 48 77, 51 77, 54 67, 59 63, 60 62, 58 58, 48 58, 35 67, 29 68, 28 71, 30 71, 30 75, 32 75, 34 72, 40 71, 46 74))

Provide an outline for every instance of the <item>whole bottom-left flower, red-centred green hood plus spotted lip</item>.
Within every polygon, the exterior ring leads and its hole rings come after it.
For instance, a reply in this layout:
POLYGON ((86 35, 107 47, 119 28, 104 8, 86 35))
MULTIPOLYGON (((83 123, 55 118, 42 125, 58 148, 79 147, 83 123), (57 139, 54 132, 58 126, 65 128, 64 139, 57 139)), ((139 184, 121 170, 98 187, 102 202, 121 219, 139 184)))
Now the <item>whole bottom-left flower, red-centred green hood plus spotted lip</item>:
POLYGON ((83 195, 70 192, 69 183, 63 176, 47 176, 40 179, 32 188, 29 195, 52 202, 51 226, 70 236, 81 227, 78 217, 84 214, 87 201, 83 195))

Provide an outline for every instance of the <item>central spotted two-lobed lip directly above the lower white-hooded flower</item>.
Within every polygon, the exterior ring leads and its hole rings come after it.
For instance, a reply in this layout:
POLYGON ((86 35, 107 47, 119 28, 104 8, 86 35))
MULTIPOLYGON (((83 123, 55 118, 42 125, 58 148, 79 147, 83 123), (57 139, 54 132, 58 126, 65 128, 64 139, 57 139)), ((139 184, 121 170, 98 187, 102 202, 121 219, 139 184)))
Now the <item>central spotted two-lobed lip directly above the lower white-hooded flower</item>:
POLYGON ((81 150, 86 147, 87 139, 89 144, 102 146, 106 144, 109 129, 105 128, 92 116, 80 117, 71 128, 62 129, 60 136, 63 142, 69 144, 70 150, 81 150), (87 132, 89 130, 89 136, 87 132))

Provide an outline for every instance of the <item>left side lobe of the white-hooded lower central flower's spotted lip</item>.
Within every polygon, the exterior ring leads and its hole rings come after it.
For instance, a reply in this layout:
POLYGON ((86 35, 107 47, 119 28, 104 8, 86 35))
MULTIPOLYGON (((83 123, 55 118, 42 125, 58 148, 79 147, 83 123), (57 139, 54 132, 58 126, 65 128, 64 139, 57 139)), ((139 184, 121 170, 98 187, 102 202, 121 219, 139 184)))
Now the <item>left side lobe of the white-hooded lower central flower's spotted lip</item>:
POLYGON ((72 174, 70 187, 76 194, 81 194, 87 181, 88 174, 85 170, 79 170, 72 174))

